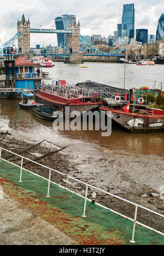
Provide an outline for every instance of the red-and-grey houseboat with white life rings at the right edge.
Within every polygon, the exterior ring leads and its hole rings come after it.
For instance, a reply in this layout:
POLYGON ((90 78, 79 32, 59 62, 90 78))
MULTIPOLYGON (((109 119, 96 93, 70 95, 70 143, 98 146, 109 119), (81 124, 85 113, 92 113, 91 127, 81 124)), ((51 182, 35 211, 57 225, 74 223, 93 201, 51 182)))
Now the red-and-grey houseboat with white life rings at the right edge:
MULTIPOLYGON (((131 89, 130 101, 114 106, 101 106, 100 110, 111 116, 112 121, 128 131, 164 131, 164 110, 150 108, 147 103, 148 89, 131 89)), ((158 96, 160 90, 149 89, 150 93, 158 96)), ((115 96, 120 101, 121 96, 115 96)))

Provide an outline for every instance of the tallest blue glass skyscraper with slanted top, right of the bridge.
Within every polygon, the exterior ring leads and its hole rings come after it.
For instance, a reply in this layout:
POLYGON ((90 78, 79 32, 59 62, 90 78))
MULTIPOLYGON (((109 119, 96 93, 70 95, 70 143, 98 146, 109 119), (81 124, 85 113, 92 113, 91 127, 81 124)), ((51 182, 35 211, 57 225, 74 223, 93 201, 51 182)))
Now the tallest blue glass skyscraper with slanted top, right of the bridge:
POLYGON ((124 4, 122 12, 122 37, 127 36, 128 43, 134 38, 135 9, 134 4, 124 4))

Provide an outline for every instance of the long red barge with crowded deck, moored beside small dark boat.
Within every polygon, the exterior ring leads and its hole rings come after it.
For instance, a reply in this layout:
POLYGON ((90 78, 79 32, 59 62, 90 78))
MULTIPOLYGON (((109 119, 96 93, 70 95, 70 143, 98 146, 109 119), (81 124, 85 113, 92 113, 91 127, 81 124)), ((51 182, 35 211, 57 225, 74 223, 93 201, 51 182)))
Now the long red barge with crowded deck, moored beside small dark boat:
POLYGON ((61 81, 60 85, 42 86, 35 93, 36 102, 43 103, 55 110, 65 113, 65 107, 69 107, 69 113, 78 111, 80 114, 89 110, 96 110, 104 102, 97 97, 92 90, 78 86, 66 85, 61 81))

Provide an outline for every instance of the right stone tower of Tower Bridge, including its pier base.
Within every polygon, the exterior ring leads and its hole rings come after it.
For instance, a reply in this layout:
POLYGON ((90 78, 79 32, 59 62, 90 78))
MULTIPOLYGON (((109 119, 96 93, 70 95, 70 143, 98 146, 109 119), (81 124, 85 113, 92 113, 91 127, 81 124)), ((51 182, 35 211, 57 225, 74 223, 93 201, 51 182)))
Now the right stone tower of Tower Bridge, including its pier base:
POLYGON ((83 54, 80 54, 80 23, 75 22, 74 16, 72 23, 67 24, 67 30, 69 29, 72 30, 72 34, 67 36, 69 62, 81 63, 83 62, 83 54))

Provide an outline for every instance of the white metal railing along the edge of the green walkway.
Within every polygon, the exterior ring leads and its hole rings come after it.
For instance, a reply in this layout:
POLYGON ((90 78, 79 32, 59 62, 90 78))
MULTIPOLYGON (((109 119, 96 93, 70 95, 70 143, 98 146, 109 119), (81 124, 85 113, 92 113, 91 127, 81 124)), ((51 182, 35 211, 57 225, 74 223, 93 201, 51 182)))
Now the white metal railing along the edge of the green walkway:
POLYGON ((164 236, 164 233, 162 233, 162 232, 160 232, 160 231, 158 231, 158 230, 155 230, 155 229, 153 229, 152 227, 149 227, 149 226, 147 226, 147 225, 145 225, 145 224, 143 224, 143 223, 137 221, 137 211, 138 211, 138 208, 147 210, 148 212, 153 213, 153 214, 156 214, 156 215, 161 216, 161 217, 163 218, 164 215, 162 215, 162 214, 160 214, 160 213, 154 212, 153 210, 150 210, 150 209, 148 209, 148 208, 145 208, 145 207, 143 207, 143 206, 141 206, 141 205, 139 205, 139 204, 130 202, 130 201, 128 201, 127 199, 121 198, 121 197, 116 196, 116 195, 114 195, 114 194, 111 194, 111 193, 109 193, 109 192, 107 192, 107 191, 101 190, 100 188, 97 188, 97 187, 95 187, 95 186, 89 185, 89 184, 86 183, 86 182, 80 181, 80 180, 78 180, 78 179, 75 179, 74 177, 71 177, 71 176, 69 176, 69 175, 63 174, 62 172, 57 171, 57 170, 54 170, 54 169, 52 169, 52 168, 50 168, 50 167, 48 167, 48 166, 45 166, 45 165, 43 165, 43 164, 39 164, 39 163, 37 163, 37 162, 35 162, 35 161, 29 159, 29 158, 23 157, 22 155, 16 154, 16 153, 11 152, 11 151, 9 151, 8 149, 2 148, 2 147, 0 147, 0 164, 1 164, 1 159, 4 160, 4 161, 7 162, 7 163, 10 163, 10 164, 12 164, 12 165, 14 165, 14 166, 20 168, 20 180, 19 180, 19 182, 22 182, 22 170, 28 171, 28 172, 30 172, 31 174, 34 174, 34 175, 36 175, 36 176, 38 176, 38 177, 40 177, 40 178, 42 178, 42 179, 48 181, 48 190, 47 190, 47 195, 46 195, 46 197, 50 197, 50 183, 53 183, 53 184, 55 184, 55 185, 57 185, 57 186, 62 187, 63 189, 65 189, 65 190, 67 190, 67 191, 69 191, 69 192, 75 193, 75 194, 77 194, 78 196, 84 198, 85 201, 84 201, 83 215, 81 215, 82 217, 86 217, 86 215, 85 215, 85 214, 86 214, 86 201, 90 201, 90 202, 91 202, 91 199, 87 198, 87 191, 88 191, 88 188, 89 188, 89 187, 90 187, 90 188, 93 188, 93 189, 96 190, 96 191, 99 191, 99 192, 102 192, 102 193, 106 193, 107 195, 112 196, 112 197, 114 197, 114 198, 120 199, 121 201, 124 201, 124 202, 126 202, 126 203, 130 203, 130 204, 134 205, 134 207, 135 207, 135 212, 134 212, 134 218, 132 219, 132 218, 130 218, 130 217, 128 217, 128 216, 125 216, 125 215, 122 215, 122 214, 120 214, 120 213, 118 213, 118 212, 115 212, 115 210, 112 210, 112 209, 110 209, 110 208, 108 208, 108 207, 106 207, 106 206, 104 206, 104 205, 102 205, 102 204, 99 204, 99 203, 96 203, 96 202, 95 202, 95 204, 99 205, 100 207, 106 208, 106 209, 110 210, 111 212, 114 212, 115 214, 118 214, 118 215, 120 215, 120 216, 122 216, 122 217, 124 217, 124 218, 126 218, 126 219, 128 219, 128 220, 133 221, 132 239, 130 240, 131 243, 135 243, 135 241, 134 241, 134 233, 135 233, 136 224, 142 225, 142 226, 146 227, 147 229, 153 230, 153 231, 159 233, 160 235, 164 236), (20 157, 20 158, 21 158, 21 165, 19 166, 19 165, 17 165, 17 164, 11 163, 11 162, 8 161, 7 159, 2 158, 2 151, 6 151, 6 152, 9 152, 9 153, 11 153, 11 154, 16 155, 17 157, 20 157), (42 166, 42 167, 45 168, 45 169, 48 169, 48 170, 49 170, 49 178, 46 179, 46 178, 43 177, 43 176, 40 176, 40 175, 38 175, 38 174, 36 174, 36 173, 30 171, 30 170, 27 170, 27 169, 23 168, 24 160, 30 161, 31 163, 37 164, 37 165, 39 165, 39 166, 42 166), (65 176, 65 177, 66 177, 66 180, 63 180, 63 181, 66 181, 66 186, 62 186, 62 185, 60 185, 60 184, 58 184, 58 183, 56 183, 56 182, 54 182, 54 181, 51 181, 51 171, 57 172, 57 174, 60 174, 60 175, 62 175, 62 176, 65 176), (70 182, 68 181, 68 179, 72 179, 72 180, 74 180, 74 181, 77 181, 77 182, 79 182, 79 183, 85 185, 85 187, 86 187, 86 188, 85 188, 85 197, 82 196, 81 194, 77 193, 77 192, 74 192, 74 191, 68 189, 67 186, 68 186, 68 184, 70 183, 70 182))

